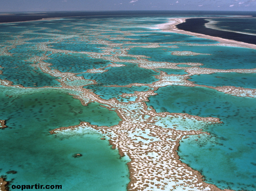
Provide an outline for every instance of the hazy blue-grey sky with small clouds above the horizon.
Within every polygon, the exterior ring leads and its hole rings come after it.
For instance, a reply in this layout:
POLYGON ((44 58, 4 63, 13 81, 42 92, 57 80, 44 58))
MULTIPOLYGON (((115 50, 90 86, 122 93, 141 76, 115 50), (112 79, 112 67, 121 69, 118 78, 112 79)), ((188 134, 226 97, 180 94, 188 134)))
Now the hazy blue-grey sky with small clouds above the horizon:
POLYGON ((256 0, 0 0, 0 12, 117 10, 256 11, 256 0))

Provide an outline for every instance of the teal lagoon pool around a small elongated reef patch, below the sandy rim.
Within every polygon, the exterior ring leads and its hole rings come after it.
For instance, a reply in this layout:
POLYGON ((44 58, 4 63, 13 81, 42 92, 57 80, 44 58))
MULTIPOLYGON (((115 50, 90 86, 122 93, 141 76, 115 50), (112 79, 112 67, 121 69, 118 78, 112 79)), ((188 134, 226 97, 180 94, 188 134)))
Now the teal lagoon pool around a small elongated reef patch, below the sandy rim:
POLYGON ((253 69, 256 67, 255 55, 256 50, 240 47, 225 46, 177 46, 178 48, 131 48, 129 54, 150 56, 150 61, 161 62, 195 62, 202 63, 203 66, 213 69, 253 69), (166 49, 166 50, 163 50, 166 49), (192 51, 200 54, 196 56, 176 56, 171 51, 192 51), (245 56, 246 55, 246 56, 245 56))

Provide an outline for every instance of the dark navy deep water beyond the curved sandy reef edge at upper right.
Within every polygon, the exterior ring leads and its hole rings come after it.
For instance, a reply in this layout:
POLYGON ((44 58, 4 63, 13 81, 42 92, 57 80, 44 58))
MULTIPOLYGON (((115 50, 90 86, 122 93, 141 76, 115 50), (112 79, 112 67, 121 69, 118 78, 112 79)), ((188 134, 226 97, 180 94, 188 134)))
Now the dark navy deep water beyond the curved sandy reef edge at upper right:
POLYGON ((217 36, 223 39, 256 44, 256 13, 237 12, 237 15, 249 17, 187 19, 185 23, 178 24, 177 28, 185 31, 217 36))

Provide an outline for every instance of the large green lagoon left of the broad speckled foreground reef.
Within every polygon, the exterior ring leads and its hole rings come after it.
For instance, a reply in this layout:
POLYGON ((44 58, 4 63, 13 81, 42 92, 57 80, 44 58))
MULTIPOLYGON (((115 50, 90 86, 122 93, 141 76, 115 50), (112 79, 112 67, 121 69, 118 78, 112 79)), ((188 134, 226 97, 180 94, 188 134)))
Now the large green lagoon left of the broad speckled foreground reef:
POLYGON ((49 130, 88 121, 94 125, 115 125, 120 118, 99 104, 81 105, 62 90, 27 91, 1 87, 0 175, 11 185, 62 185, 62 190, 126 190, 129 173, 126 158, 111 149, 96 131, 79 136, 50 135, 49 130), (6 96, 8 95, 8 96, 6 96), (54 104, 53 104, 54 103, 54 104), (98 120, 98 118, 102 120, 98 120), (74 158, 80 153, 83 156, 74 158), (8 174, 16 171, 16 174, 8 174))

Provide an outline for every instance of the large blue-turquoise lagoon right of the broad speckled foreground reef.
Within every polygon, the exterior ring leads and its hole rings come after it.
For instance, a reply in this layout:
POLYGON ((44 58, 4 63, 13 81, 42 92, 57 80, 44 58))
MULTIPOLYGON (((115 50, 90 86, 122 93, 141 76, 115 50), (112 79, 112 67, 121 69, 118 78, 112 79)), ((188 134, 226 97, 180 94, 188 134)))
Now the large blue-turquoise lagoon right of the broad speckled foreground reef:
POLYGON ((190 136, 181 141, 178 154, 184 163, 219 188, 255 190, 254 98, 235 97, 205 87, 165 86, 156 93, 147 104, 157 112, 218 117, 223 122, 203 129, 210 136, 190 136))

